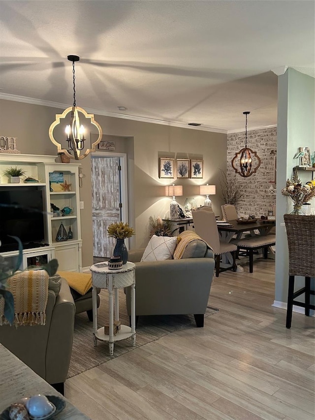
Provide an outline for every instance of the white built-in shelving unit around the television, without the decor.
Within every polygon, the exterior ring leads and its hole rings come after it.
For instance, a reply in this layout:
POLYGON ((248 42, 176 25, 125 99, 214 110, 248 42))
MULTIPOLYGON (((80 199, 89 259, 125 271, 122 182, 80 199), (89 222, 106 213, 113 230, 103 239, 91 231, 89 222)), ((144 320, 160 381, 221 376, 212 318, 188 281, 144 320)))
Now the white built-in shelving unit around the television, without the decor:
MULTIPOLYGON (((57 258, 59 270, 82 271, 82 237, 80 219, 80 195, 79 195, 79 166, 80 163, 58 163, 55 156, 42 155, 20 155, 20 154, 0 154, 0 188, 13 189, 23 188, 24 186, 41 189, 43 191, 43 208, 45 221, 45 246, 26 249, 23 251, 22 269, 26 269, 34 262, 48 262, 52 258, 57 258), (5 169, 10 166, 18 166, 26 171, 25 176, 35 178, 39 182, 23 183, 25 177, 21 177, 19 184, 11 184, 10 180, 3 175, 5 169), (70 191, 51 191, 51 174, 59 172, 63 181, 69 185, 70 191), (69 215, 56 217, 51 212, 51 203, 63 209, 69 207, 69 215), (54 217, 55 216, 55 217, 54 217), (68 232, 71 227, 73 237, 66 241, 56 241, 58 229, 63 223, 68 232)), ((60 187, 62 190, 62 187, 60 187)), ((0 248, 1 253, 1 248, 0 248)), ((12 262, 17 259, 18 251, 1 253, 5 258, 12 262)))

